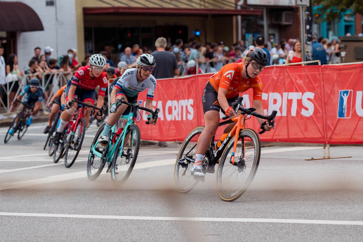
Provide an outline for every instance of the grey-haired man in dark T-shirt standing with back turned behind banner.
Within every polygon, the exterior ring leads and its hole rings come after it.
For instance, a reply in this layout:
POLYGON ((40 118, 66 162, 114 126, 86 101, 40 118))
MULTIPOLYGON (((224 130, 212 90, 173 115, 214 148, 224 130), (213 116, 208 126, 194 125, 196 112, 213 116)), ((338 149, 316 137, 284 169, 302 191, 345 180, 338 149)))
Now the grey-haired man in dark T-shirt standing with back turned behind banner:
MULTIPOLYGON (((155 41, 156 51, 151 55, 154 56, 156 66, 152 71, 152 75, 158 80, 160 78, 172 78, 179 75, 178 62, 175 54, 165 51, 167 40, 160 37, 155 41)), ((160 146, 167 146, 166 142, 159 141, 160 146)))

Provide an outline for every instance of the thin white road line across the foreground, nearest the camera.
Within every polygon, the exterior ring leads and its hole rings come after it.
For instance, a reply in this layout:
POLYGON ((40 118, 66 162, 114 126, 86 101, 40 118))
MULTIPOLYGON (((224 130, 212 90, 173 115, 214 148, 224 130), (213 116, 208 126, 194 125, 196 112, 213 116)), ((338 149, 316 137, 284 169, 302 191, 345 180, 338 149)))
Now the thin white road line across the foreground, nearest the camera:
POLYGON ((0 216, 22 217, 57 217, 57 218, 96 218, 117 220, 153 220, 153 221, 198 221, 198 222, 245 222, 245 223, 298 223, 323 225, 363 225, 363 221, 350 220, 305 220, 279 218, 193 218, 193 217, 147 217, 147 216, 117 216, 117 215, 84 215, 84 214, 56 214, 56 213, 6 213, 0 216))

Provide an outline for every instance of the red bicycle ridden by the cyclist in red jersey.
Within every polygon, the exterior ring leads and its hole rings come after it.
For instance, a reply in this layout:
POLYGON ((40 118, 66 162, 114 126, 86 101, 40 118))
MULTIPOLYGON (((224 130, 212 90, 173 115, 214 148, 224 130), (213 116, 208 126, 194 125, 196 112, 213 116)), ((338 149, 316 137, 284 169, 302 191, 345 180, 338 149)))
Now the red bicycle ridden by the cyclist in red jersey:
POLYGON ((79 108, 74 114, 72 119, 69 121, 64 131, 61 134, 58 147, 55 147, 54 151, 54 162, 62 157, 64 152, 64 165, 69 168, 76 161, 79 151, 81 150, 83 139, 85 138, 86 132, 86 120, 84 119, 85 107, 91 107, 98 110, 100 115, 104 108, 98 108, 93 105, 81 102, 77 100, 77 96, 72 100, 70 106, 72 107, 74 102, 77 102, 81 108, 79 108))

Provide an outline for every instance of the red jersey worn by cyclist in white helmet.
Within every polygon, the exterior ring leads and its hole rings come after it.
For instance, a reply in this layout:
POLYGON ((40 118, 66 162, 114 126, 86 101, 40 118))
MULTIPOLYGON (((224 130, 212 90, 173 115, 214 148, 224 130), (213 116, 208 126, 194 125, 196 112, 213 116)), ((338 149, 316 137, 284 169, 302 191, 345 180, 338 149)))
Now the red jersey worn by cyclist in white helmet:
POLYGON ((78 86, 81 89, 92 90, 99 86, 98 95, 105 96, 107 89, 107 77, 101 73, 99 77, 91 77, 90 66, 79 67, 72 77, 72 85, 78 86))

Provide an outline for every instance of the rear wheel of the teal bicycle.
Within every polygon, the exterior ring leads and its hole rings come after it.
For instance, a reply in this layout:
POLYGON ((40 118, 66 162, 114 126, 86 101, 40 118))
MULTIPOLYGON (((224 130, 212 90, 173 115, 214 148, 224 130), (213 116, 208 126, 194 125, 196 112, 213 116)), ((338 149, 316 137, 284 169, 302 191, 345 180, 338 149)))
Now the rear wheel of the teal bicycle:
MULTIPOLYGON (((94 181, 97 179, 97 177, 101 174, 103 167, 105 167, 106 164, 106 160, 101 159, 101 157, 95 155, 92 151, 92 147, 97 143, 99 136, 101 136, 103 128, 105 128, 106 124, 103 124, 101 127, 99 127, 96 135, 94 136, 92 145, 91 145, 91 150, 88 156, 88 161, 87 161, 87 177, 88 179, 90 179, 91 181, 94 181)), ((101 146, 101 145, 99 145, 101 146)), ((107 148, 107 147, 106 147, 107 148)), ((96 148, 97 149, 97 148, 96 148)), ((102 150, 105 149, 105 147, 102 147, 102 150)), ((99 149, 98 151, 100 153, 102 153, 102 150, 99 149)))

